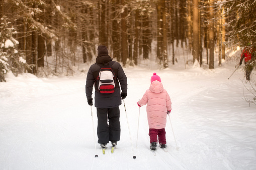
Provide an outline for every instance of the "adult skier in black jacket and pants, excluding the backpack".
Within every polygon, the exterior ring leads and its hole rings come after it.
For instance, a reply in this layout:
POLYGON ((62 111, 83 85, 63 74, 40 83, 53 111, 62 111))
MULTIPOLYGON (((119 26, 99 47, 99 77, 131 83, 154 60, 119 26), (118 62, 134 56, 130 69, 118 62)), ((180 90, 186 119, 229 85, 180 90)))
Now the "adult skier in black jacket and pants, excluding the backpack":
POLYGON ((86 96, 88 104, 91 106, 93 105, 93 86, 95 87, 95 107, 97 108, 98 117, 98 143, 100 143, 101 147, 104 149, 109 141, 111 141, 112 147, 115 147, 117 141, 120 140, 119 105, 122 104, 121 99, 127 96, 127 78, 124 70, 120 63, 112 61, 113 59, 108 54, 109 52, 106 46, 98 47, 96 63, 91 65, 86 80, 86 96), (100 86, 98 86, 99 72, 102 68, 113 70, 115 87, 111 92, 102 92, 100 86))

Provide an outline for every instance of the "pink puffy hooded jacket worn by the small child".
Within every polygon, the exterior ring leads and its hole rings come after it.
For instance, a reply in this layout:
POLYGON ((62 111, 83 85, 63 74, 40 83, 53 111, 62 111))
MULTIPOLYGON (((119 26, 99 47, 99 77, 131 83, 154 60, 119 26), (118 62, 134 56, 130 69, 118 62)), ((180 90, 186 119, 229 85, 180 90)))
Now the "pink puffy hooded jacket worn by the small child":
POLYGON ((167 110, 172 110, 172 102, 162 83, 153 81, 143 97, 138 101, 140 106, 147 104, 147 120, 149 128, 165 128, 167 110))

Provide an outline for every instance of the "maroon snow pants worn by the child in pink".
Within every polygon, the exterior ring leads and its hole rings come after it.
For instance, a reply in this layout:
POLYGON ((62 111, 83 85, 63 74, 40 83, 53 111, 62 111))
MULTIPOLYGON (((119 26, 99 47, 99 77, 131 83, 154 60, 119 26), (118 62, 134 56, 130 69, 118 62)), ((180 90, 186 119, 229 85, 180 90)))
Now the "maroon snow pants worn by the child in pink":
POLYGON ((150 143, 156 142, 157 143, 157 135, 158 135, 158 143, 166 144, 166 138, 165 138, 165 129, 149 129, 149 137, 150 137, 150 143))

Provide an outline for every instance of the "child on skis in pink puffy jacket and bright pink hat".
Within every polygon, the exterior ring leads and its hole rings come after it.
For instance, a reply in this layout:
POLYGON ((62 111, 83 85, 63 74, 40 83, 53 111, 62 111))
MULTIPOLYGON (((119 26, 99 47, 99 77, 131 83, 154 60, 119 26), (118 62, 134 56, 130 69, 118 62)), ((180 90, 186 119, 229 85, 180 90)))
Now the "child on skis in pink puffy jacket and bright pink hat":
POLYGON ((160 147, 165 148, 166 139, 164 128, 166 124, 166 116, 172 110, 172 102, 170 101, 167 91, 163 89, 161 79, 156 73, 153 73, 149 89, 146 90, 137 104, 139 107, 147 104, 150 149, 156 149, 157 135, 160 147))

